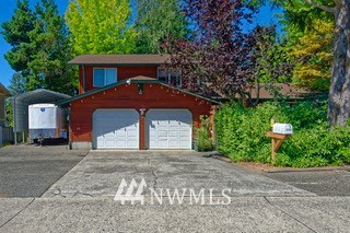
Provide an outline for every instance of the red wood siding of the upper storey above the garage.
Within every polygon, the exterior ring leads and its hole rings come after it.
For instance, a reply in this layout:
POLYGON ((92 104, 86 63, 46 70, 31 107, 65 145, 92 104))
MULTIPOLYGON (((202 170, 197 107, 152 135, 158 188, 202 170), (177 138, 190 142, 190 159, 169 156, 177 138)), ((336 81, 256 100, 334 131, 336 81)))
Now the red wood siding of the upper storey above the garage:
POLYGON ((156 79, 158 66, 80 66, 79 67, 79 94, 83 92, 83 75, 85 75, 85 92, 95 89, 93 86, 93 70, 94 68, 116 68, 118 81, 144 75, 156 79))

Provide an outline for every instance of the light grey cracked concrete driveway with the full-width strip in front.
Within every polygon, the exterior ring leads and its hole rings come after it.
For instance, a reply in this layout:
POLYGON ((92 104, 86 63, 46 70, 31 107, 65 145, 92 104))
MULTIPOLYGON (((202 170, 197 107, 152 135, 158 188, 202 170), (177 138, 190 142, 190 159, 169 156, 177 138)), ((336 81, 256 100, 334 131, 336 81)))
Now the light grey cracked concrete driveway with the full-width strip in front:
POLYGON ((0 198, 0 232, 349 232, 349 207, 350 197, 314 196, 196 152, 93 151, 43 197, 0 198), (122 178, 154 189, 209 188, 214 198, 230 188, 232 201, 121 205, 110 196, 122 178))

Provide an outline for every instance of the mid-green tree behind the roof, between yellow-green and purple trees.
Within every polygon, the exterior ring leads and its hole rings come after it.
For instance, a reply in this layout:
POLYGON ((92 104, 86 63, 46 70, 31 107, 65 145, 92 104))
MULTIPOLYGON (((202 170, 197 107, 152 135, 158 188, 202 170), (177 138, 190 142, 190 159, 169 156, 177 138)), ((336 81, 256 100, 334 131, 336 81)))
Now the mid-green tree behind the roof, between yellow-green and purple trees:
POLYGON ((188 27, 179 0, 138 0, 137 53, 159 54, 165 39, 184 39, 188 27))

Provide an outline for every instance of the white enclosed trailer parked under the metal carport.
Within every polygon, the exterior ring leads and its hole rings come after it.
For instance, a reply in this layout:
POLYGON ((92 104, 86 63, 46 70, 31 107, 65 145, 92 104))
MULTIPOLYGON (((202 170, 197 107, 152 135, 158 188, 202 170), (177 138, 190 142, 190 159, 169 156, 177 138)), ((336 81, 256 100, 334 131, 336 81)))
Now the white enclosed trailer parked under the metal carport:
POLYGON ((28 128, 31 139, 67 138, 66 110, 55 104, 33 104, 28 106, 28 128))

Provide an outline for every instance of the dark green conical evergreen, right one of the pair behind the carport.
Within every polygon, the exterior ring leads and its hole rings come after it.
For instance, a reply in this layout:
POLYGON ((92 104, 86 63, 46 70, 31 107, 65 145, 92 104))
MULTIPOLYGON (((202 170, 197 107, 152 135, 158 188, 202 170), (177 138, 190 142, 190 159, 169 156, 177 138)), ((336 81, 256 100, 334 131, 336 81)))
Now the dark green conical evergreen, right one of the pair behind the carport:
POLYGON ((68 30, 54 0, 42 0, 35 7, 34 30, 28 33, 35 53, 28 62, 30 90, 46 88, 73 94, 75 75, 67 62, 72 58, 68 30))

